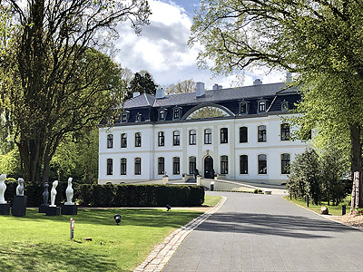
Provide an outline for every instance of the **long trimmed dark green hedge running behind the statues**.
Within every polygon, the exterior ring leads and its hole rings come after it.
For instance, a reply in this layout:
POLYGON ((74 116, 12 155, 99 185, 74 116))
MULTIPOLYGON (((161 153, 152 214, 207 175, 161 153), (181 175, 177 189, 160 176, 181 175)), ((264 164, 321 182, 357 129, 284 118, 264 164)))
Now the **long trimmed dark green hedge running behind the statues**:
MULTIPOLYGON (((12 203, 17 181, 6 180, 5 200, 12 203)), ((67 181, 57 186, 56 205, 66 201, 67 181)), ((74 201, 89 207, 172 207, 201 206, 204 189, 196 185, 132 185, 132 184, 73 184, 74 201)), ((49 182, 49 193, 52 182, 49 182)), ((43 183, 25 182, 27 207, 39 207, 43 203, 43 183)), ((50 202, 50 196, 49 196, 50 202)))

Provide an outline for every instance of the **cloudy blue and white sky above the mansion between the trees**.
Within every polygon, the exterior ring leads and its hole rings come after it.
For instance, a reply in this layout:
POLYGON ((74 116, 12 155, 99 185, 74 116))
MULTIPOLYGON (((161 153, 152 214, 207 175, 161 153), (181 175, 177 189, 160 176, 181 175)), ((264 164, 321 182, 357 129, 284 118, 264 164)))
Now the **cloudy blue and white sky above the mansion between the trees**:
MULTIPOLYGON (((114 42, 117 53, 115 60, 132 73, 146 70, 152 74, 155 83, 166 87, 168 84, 192 79, 205 83, 211 90, 214 83, 223 88, 247 86, 257 78, 263 83, 280 83, 285 74, 278 72, 253 71, 245 73, 243 83, 231 75, 213 77, 209 70, 201 70, 196 59, 201 47, 189 48, 188 38, 194 9, 199 0, 149 0, 152 15, 151 24, 142 26, 142 35, 134 34, 130 24, 117 26, 120 38, 114 42)), ((200 45, 201 46, 201 45, 200 45)))

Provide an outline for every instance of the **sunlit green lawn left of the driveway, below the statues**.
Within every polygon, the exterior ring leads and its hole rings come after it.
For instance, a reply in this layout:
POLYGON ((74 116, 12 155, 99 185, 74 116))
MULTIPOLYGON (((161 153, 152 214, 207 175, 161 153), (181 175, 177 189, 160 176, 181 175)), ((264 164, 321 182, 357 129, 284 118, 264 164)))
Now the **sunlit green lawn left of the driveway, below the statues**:
POLYGON ((132 271, 152 248, 201 212, 165 209, 80 209, 76 216, 0 216, 2 271, 132 271), (117 226, 113 216, 122 216, 117 226), (70 218, 75 219, 74 240, 70 218), (83 238, 92 238, 86 241, 83 238))

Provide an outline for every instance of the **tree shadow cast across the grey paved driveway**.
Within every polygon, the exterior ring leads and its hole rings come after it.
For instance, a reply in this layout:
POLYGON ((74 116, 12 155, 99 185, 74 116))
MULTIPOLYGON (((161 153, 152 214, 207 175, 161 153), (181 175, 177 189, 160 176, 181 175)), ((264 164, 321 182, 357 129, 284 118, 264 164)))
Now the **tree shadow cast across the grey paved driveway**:
POLYGON ((291 238, 329 238, 331 237, 329 232, 354 231, 356 229, 328 219, 232 212, 216 213, 196 230, 291 238))

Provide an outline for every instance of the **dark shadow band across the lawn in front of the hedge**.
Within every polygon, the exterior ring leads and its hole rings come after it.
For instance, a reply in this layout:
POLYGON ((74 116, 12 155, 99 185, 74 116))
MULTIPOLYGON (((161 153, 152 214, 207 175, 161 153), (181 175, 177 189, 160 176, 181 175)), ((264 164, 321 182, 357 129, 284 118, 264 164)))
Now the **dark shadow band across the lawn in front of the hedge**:
POLYGON ((24 218, 14 218, 19 221, 53 220, 69 222, 75 219, 76 224, 114 225, 113 216, 121 215, 122 226, 171 227, 180 228, 189 220, 198 217, 202 212, 195 211, 165 211, 165 209, 81 209, 74 216, 45 216, 37 210, 27 210, 24 218))

